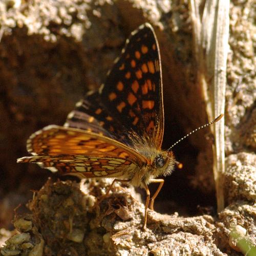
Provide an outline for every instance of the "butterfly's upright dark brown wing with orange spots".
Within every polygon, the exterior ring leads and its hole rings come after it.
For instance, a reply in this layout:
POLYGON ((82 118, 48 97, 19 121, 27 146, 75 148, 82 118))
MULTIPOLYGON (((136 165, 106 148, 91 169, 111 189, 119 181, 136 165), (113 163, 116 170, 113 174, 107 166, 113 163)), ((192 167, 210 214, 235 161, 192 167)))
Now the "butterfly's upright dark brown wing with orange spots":
POLYGON ((144 24, 127 39, 105 84, 78 102, 65 126, 89 129, 130 146, 143 138, 160 148, 164 125, 161 77, 156 35, 150 24, 144 24))

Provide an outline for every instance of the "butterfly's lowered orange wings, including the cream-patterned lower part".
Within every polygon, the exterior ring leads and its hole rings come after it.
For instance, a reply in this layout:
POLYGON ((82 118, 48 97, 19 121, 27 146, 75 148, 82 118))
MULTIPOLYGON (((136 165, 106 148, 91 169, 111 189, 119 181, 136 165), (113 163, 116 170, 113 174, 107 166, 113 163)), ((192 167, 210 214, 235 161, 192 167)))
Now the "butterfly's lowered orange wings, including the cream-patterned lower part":
POLYGON ((32 134, 27 150, 34 156, 17 162, 40 163, 41 167, 84 177, 117 177, 127 168, 146 163, 132 148, 87 131, 49 125, 32 134))

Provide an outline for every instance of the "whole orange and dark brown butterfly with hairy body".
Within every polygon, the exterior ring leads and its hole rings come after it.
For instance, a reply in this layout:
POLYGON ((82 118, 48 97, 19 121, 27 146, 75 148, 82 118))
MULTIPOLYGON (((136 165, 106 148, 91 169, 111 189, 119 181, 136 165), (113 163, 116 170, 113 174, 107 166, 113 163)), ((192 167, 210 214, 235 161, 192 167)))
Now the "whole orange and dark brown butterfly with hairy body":
POLYGON ((176 163, 170 148, 161 149, 163 131, 160 51, 153 27, 145 23, 126 40, 99 90, 88 92, 63 126, 32 134, 32 156, 17 162, 81 178, 113 177, 106 195, 116 181, 144 188, 145 228, 147 209, 153 209, 164 183, 158 177, 171 174, 176 163), (150 183, 159 183, 152 198, 150 183))

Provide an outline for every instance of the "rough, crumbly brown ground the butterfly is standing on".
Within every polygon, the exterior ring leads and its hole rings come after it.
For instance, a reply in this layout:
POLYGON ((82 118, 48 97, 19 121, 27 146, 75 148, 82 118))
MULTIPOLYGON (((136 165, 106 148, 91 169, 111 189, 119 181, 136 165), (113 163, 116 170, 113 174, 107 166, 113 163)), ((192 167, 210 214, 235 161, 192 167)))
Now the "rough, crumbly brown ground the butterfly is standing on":
POLYGON ((33 228, 24 232, 25 220, 18 219, 15 226, 22 233, 9 239, 1 253, 17 250, 27 255, 45 244, 47 255, 225 255, 214 243, 211 216, 183 218, 150 211, 142 230, 144 205, 134 199, 133 188, 119 184, 93 207, 110 184, 111 179, 80 184, 48 181, 29 204, 33 228), (44 240, 38 239, 37 230, 44 240))

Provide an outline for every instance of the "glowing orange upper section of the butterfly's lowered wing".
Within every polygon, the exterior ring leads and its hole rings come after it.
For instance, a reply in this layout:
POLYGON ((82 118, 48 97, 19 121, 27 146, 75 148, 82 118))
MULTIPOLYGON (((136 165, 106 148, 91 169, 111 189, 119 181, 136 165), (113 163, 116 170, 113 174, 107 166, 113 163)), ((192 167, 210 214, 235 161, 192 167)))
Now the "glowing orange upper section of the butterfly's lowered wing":
POLYGON ((27 150, 39 156, 83 155, 118 157, 141 164, 145 159, 132 148, 99 134, 49 125, 32 134, 27 150))

